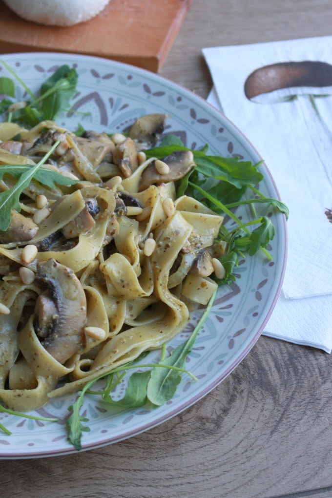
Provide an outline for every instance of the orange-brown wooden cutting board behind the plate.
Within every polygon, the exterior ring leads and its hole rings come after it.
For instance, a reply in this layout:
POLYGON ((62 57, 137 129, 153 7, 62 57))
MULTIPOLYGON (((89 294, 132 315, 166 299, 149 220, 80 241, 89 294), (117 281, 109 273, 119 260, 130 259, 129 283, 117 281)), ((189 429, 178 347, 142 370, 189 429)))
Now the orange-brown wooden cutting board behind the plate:
POLYGON ((0 1, 0 52, 72 52, 157 72, 192 1, 111 0, 97 17, 68 27, 26 21, 0 1))

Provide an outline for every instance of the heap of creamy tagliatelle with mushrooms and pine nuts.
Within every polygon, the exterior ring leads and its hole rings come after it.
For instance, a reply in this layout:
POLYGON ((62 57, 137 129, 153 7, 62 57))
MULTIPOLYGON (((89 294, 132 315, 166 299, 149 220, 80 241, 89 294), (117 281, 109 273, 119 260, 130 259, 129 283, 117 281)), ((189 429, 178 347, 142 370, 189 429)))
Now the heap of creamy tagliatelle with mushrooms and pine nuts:
MULTIPOLYGON (((0 140, 0 168, 34 165, 59 140, 43 171, 77 180, 33 179, 0 232, 0 400, 28 411, 178 334, 189 308, 217 288, 211 259, 222 217, 176 199, 174 182, 195 167, 187 152, 163 177, 154 159, 139 164, 144 144, 130 133, 114 143, 49 121, 31 130, 4 123, 0 140), (40 196, 47 203, 38 208, 40 196), (23 261, 27 246, 37 254, 23 261), (33 272, 29 283, 22 266, 33 272)), ((0 189, 14 184, 4 174, 0 189)))

